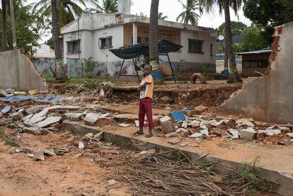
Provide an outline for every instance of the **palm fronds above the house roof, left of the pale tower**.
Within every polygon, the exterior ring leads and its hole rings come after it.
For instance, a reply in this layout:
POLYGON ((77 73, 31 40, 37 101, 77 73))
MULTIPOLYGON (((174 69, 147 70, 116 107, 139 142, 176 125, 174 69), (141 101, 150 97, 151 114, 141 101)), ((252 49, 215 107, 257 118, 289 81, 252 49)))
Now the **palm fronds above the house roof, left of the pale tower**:
POLYGON ((92 0, 91 5, 94 8, 88 8, 88 11, 96 11, 103 13, 117 13, 118 12, 118 0, 102 0, 102 5, 98 0, 92 0))

